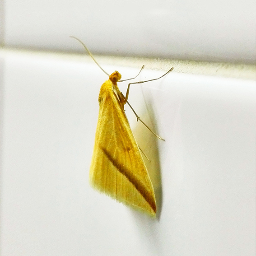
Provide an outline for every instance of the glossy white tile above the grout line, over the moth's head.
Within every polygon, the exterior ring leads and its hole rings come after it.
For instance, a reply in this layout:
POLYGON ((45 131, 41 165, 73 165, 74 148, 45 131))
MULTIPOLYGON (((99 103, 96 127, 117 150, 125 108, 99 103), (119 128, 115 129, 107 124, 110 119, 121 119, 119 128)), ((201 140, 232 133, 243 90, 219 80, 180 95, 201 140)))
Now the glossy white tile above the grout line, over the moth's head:
POLYGON ((255 63, 254 0, 5 0, 7 47, 255 63))

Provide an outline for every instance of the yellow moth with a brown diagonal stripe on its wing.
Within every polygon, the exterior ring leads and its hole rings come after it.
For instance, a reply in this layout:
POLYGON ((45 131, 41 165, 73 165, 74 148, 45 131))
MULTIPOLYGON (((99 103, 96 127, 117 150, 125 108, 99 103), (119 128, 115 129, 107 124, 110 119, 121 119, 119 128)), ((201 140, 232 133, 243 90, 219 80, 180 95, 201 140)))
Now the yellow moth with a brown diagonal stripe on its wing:
MULTIPOLYGON (((81 42, 78 38, 73 38, 81 42)), ((84 43, 81 43, 88 51, 84 43)), ((88 53, 93 58, 89 51, 88 53)), ((97 62, 96 64, 98 65, 97 62)), ((152 80, 156 79, 130 84, 152 80)), ((98 191, 155 216, 157 207, 154 188, 124 112, 124 105, 129 104, 127 100, 130 84, 125 97, 117 86, 117 82, 120 81, 121 74, 115 71, 100 88, 98 124, 89 174, 90 183, 98 191)), ((132 111, 134 112, 133 109, 132 111)), ((135 115, 137 120, 140 120, 136 113, 135 115)))

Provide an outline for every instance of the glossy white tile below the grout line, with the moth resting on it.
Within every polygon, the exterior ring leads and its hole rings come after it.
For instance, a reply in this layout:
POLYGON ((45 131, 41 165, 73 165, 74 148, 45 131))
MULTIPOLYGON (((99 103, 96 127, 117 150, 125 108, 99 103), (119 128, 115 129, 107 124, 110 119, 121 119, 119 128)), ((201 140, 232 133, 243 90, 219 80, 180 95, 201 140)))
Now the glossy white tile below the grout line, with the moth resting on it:
POLYGON ((166 139, 154 220, 88 184, 107 79, 93 62, 5 54, 0 78, 1 256, 255 254, 254 81, 173 72, 131 88, 132 106, 166 139))

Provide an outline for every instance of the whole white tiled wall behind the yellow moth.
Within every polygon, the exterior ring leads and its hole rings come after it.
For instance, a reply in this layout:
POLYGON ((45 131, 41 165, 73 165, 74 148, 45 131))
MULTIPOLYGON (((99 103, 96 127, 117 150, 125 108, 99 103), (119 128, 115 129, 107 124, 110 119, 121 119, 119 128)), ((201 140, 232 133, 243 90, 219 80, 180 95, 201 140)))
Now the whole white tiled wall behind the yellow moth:
MULTIPOLYGON (((250 64, 254 5, 6 0, 1 42, 82 51, 69 38, 75 35, 104 55, 250 64)), ((187 63, 186 74, 174 66, 165 78, 131 88, 131 105, 165 139, 154 140, 126 107, 149 171, 158 173, 151 219, 88 184, 106 75, 69 54, 0 54, 1 256, 255 255, 255 67, 231 65, 219 77, 192 74, 187 63), (238 72, 251 75, 239 79, 238 72)), ((140 70, 125 63, 103 68, 124 79, 140 70)), ((145 69, 138 79, 163 73, 145 69)))

